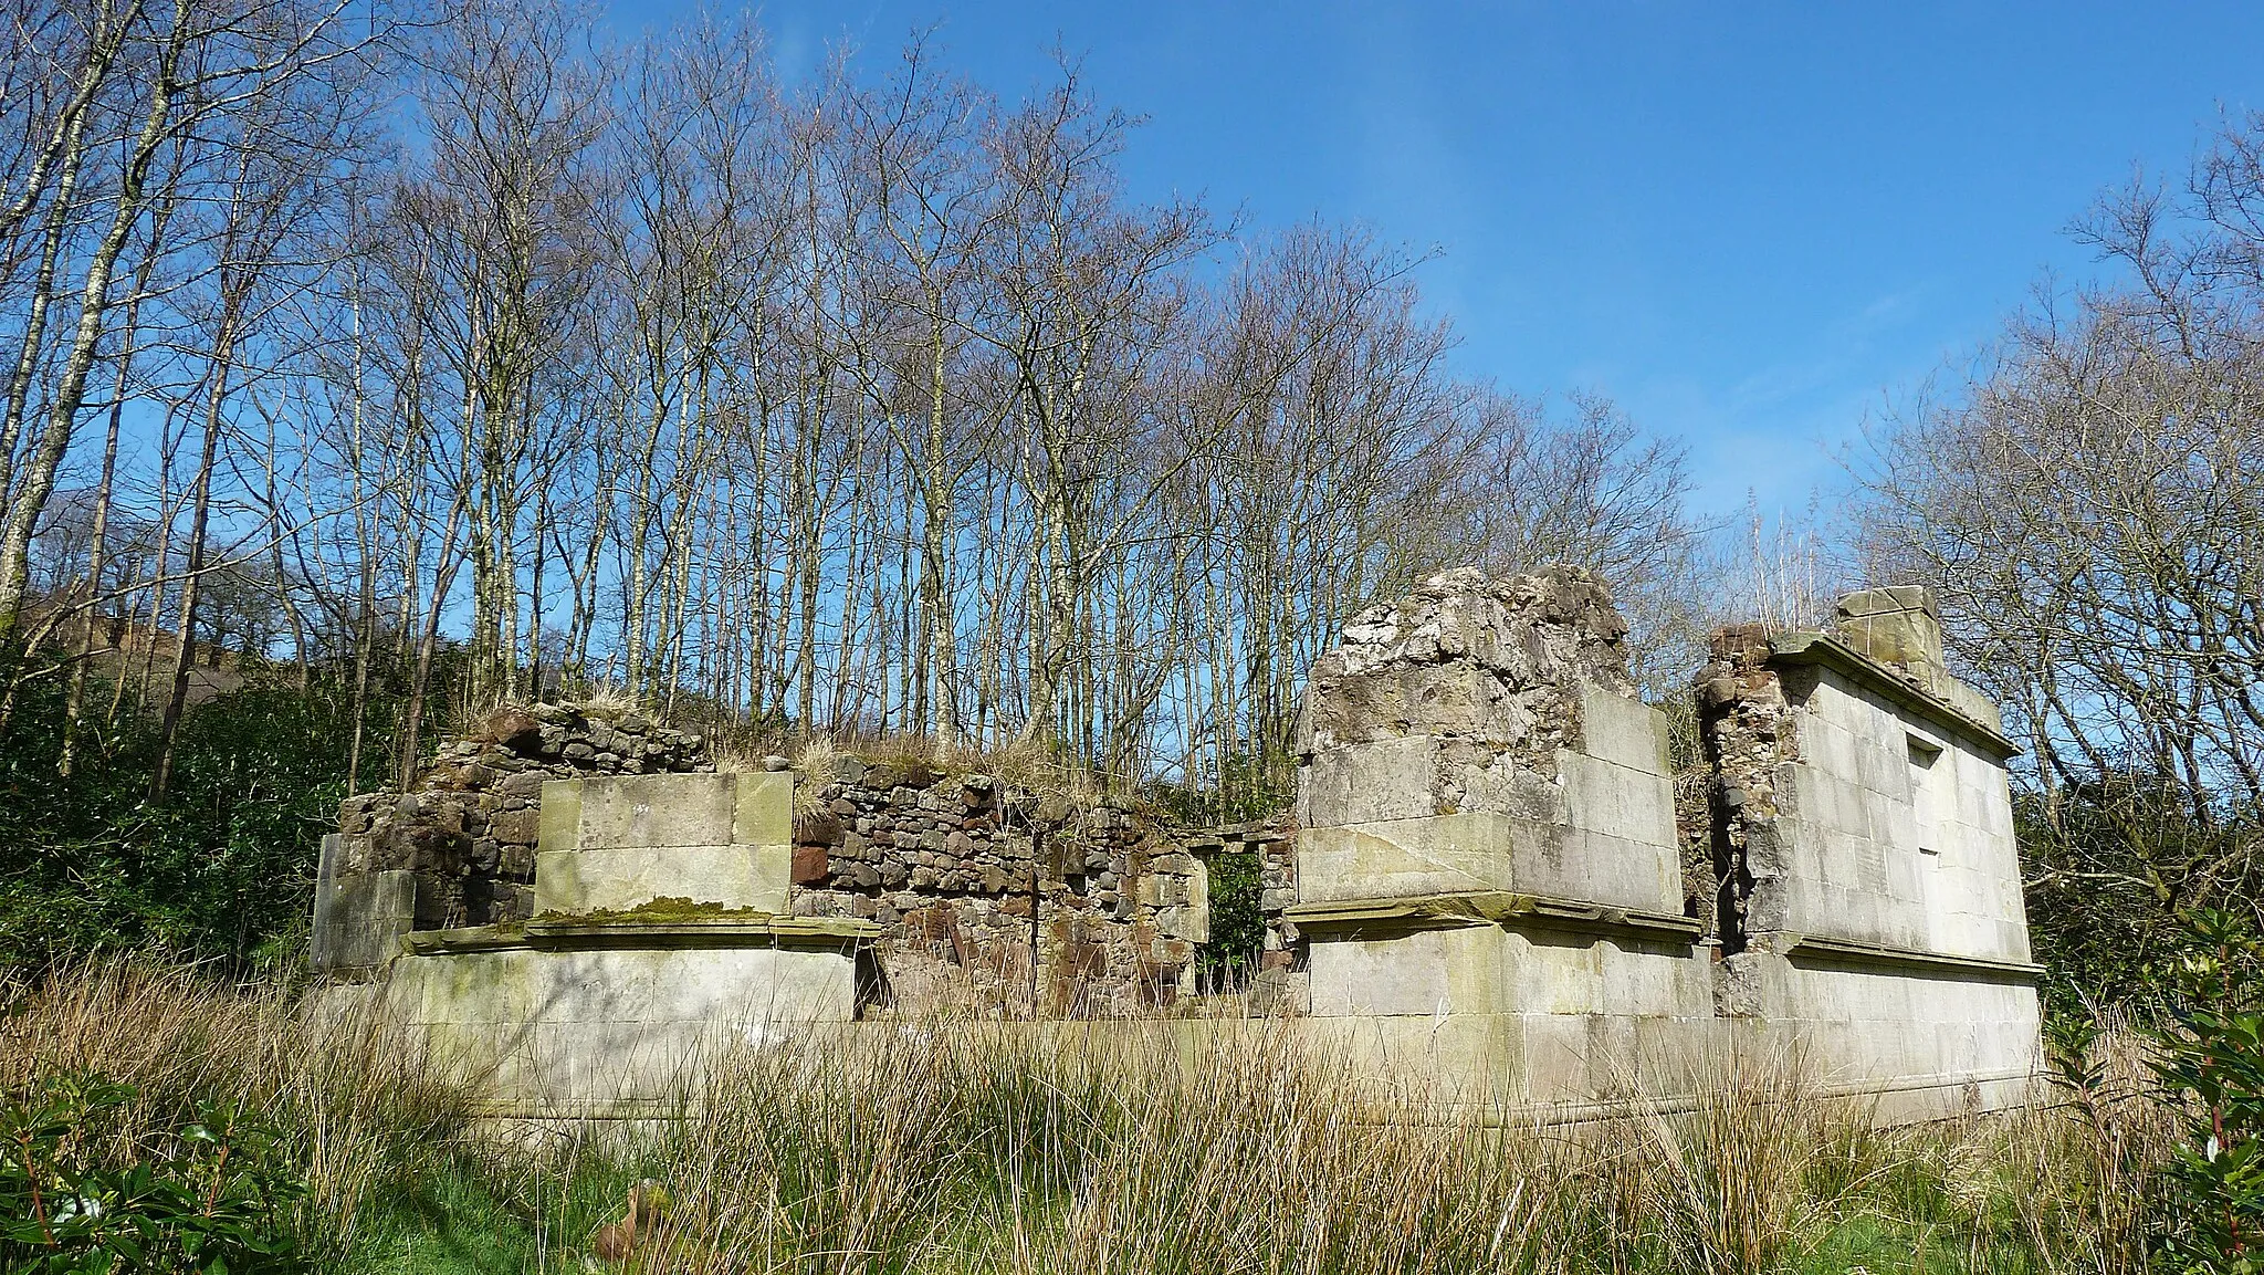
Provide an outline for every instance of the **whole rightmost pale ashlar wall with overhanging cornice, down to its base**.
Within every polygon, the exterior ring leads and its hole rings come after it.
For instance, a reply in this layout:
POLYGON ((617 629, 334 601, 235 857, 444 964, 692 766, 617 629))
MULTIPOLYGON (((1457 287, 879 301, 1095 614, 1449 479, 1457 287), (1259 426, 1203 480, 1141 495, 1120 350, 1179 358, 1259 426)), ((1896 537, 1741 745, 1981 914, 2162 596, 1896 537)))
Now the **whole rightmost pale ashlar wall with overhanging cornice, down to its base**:
POLYGON ((1829 634, 1732 627, 1712 654, 1721 1012, 1798 1033, 1827 1073, 1952 1107, 2024 1092, 2040 1015, 2017 750, 1947 675, 1931 598, 1854 593, 1829 634))

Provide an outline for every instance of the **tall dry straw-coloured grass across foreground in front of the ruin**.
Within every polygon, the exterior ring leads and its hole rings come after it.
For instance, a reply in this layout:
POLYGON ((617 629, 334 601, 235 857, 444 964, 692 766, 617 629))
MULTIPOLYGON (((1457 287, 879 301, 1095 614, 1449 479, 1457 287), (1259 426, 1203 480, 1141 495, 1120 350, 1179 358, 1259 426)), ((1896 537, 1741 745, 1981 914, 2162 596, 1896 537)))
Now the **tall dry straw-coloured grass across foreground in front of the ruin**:
POLYGON ((2162 1153, 2142 1087, 1881 1130, 1795 1062, 1750 1058, 1696 1103, 1485 1121, 1379 1092, 1297 1024, 811 1030, 711 1060, 684 1119, 498 1139, 414 1042, 335 1003, 131 960, 11 1001, 7 1094, 91 1069, 136 1085, 140 1128, 208 1098, 265 1112, 315 1184, 308 1227, 376 1270, 602 1266, 593 1237, 652 1180, 659 1223, 627 1268, 2106 1275, 2144 1268, 2162 1153), (462 1187, 387 1205, 419 1173, 462 1187), (484 1212, 451 1214, 460 1198, 484 1212), (489 1257, 451 1266, 480 1227, 489 1257))

